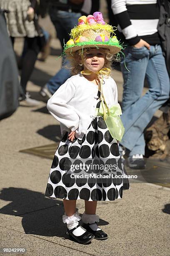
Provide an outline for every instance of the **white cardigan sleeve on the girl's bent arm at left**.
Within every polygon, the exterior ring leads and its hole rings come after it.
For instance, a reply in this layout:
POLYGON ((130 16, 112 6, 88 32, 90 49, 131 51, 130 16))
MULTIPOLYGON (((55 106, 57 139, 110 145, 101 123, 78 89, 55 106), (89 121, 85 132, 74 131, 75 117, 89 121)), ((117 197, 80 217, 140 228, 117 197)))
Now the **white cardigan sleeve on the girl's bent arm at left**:
POLYGON ((74 95, 75 85, 66 81, 47 102, 47 109, 51 115, 71 131, 78 128, 80 120, 75 110, 67 104, 74 95))

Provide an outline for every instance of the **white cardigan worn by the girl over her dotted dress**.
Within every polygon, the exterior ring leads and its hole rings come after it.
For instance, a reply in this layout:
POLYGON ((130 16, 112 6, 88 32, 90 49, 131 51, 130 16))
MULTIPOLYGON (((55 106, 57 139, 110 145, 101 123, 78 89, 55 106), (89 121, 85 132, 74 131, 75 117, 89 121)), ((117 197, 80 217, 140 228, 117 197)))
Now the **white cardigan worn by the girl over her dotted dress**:
MULTIPOLYGON (((117 86, 111 77, 103 79, 103 95, 107 106, 117 104, 117 86)), ((70 77, 47 102, 47 109, 60 122, 61 134, 75 131, 80 140, 89 127, 96 108, 98 86, 82 74, 70 77)))

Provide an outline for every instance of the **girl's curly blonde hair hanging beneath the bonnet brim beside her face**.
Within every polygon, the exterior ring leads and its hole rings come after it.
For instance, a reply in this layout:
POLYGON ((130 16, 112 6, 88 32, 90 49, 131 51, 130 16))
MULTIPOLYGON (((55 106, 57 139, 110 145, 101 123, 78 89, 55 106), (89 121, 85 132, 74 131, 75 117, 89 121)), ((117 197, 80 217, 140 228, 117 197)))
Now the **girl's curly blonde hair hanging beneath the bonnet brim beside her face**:
MULTIPOLYGON (((101 51, 103 51, 105 55, 105 64, 103 68, 112 69, 112 60, 117 61, 117 56, 110 54, 109 49, 107 48, 100 48, 101 51)), ((78 50, 67 56, 67 59, 70 61, 70 66, 64 66, 68 69, 70 69, 72 75, 76 75, 80 73, 84 67, 83 67, 83 59, 86 58, 86 54, 89 53, 89 49, 83 49, 78 50)))

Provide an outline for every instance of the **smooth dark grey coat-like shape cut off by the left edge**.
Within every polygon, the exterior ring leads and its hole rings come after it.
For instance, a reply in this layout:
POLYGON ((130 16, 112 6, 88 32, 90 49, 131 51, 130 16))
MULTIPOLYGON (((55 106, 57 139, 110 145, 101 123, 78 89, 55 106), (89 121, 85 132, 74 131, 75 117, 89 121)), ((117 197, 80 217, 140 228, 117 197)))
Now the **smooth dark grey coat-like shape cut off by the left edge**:
POLYGON ((13 46, 0 9, 0 119, 10 116, 18 107, 19 81, 13 46))

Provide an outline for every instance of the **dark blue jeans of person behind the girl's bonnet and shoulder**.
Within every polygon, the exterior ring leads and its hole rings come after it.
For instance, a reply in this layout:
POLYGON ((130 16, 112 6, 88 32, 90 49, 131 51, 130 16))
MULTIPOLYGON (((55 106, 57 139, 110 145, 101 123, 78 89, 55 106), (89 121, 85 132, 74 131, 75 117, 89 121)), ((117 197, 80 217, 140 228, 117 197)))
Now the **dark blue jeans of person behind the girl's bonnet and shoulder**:
MULTIPOLYGON (((77 25, 81 13, 69 13, 57 10, 55 7, 52 7, 49 13, 57 32, 57 38, 59 38, 63 50, 64 44, 70 39, 69 33, 71 29, 77 25)), ((64 84, 64 82, 71 77, 70 70, 64 68, 65 66, 69 66, 69 61, 63 57, 62 68, 50 79, 50 81, 47 82, 47 88, 52 94, 56 92, 60 85, 64 84)))

